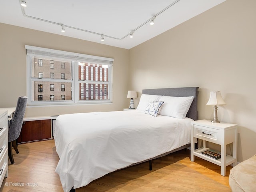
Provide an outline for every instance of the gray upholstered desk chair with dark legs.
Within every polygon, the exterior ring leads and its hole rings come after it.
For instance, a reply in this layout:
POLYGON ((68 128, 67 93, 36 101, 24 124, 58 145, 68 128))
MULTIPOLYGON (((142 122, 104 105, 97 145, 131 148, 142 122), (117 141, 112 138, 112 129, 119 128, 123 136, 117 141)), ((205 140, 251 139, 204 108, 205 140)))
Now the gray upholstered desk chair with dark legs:
POLYGON ((26 111, 27 101, 28 101, 28 98, 25 96, 20 96, 18 98, 16 110, 14 112, 12 119, 9 122, 8 156, 9 156, 11 164, 14 164, 14 159, 13 159, 13 155, 12 155, 12 147, 14 148, 16 153, 19 153, 16 139, 20 136, 23 118, 24 118, 25 111, 26 111))

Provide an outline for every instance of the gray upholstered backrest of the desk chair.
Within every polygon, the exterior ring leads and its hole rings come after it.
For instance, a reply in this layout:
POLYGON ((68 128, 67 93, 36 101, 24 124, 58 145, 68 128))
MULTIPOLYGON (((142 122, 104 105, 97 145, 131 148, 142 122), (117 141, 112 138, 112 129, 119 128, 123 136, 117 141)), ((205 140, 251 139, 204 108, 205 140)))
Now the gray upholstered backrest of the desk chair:
POLYGON ((14 141, 20 136, 27 101, 28 98, 26 96, 20 96, 18 98, 16 110, 9 124, 8 142, 14 141))

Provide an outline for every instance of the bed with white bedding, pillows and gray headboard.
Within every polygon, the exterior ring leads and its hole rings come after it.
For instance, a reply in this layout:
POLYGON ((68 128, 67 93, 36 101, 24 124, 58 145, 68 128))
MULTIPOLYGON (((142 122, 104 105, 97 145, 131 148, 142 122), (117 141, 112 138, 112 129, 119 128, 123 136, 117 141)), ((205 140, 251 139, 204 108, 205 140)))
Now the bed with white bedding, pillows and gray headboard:
POLYGON ((58 116, 54 140, 60 160, 55 171, 64 192, 190 146, 197 96, 198 87, 145 89, 136 110, 58 116), (179 102, 172 114, 170 107, 179 102), (185 108, 183 116, 177 113, 185 108))

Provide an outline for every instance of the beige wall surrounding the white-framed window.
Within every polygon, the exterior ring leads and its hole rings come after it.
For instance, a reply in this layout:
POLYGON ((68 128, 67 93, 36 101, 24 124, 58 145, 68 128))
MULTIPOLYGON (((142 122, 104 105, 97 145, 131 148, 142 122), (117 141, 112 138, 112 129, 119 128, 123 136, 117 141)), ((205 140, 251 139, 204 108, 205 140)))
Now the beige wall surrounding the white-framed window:
POLYGON ((16 106, 18 96, 26 95, 25 45, 114 58, 112 104, 28 107, 25 116, 123 110, 129 106, 129 50, 0 23, 0 107, 16 106))

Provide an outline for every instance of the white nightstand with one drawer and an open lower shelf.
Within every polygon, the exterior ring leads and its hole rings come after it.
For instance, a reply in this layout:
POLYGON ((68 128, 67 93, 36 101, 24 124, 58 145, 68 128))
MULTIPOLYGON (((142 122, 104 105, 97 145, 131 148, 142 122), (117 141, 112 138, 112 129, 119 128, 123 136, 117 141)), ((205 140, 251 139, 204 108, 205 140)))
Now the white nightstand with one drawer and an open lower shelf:
POLYGON ((237 164, 237 126, 230 123, 212 123, 210 120, 198 120, 191 122, 191 157, 190 160, 194 161, 198 156, 204 160, 212 162, 220 166, 220 174, 226 175, 226 166, 237 164), (203 147, 195 150, 194 138, 201 139, 203 147), (215 160, 212 157, 206 156, 201 152, 208 150, 207 142, 219 144, 221 146, 221 158, 215 160), (233 155, 226 154, 226 145, 233 143, 233 155))

